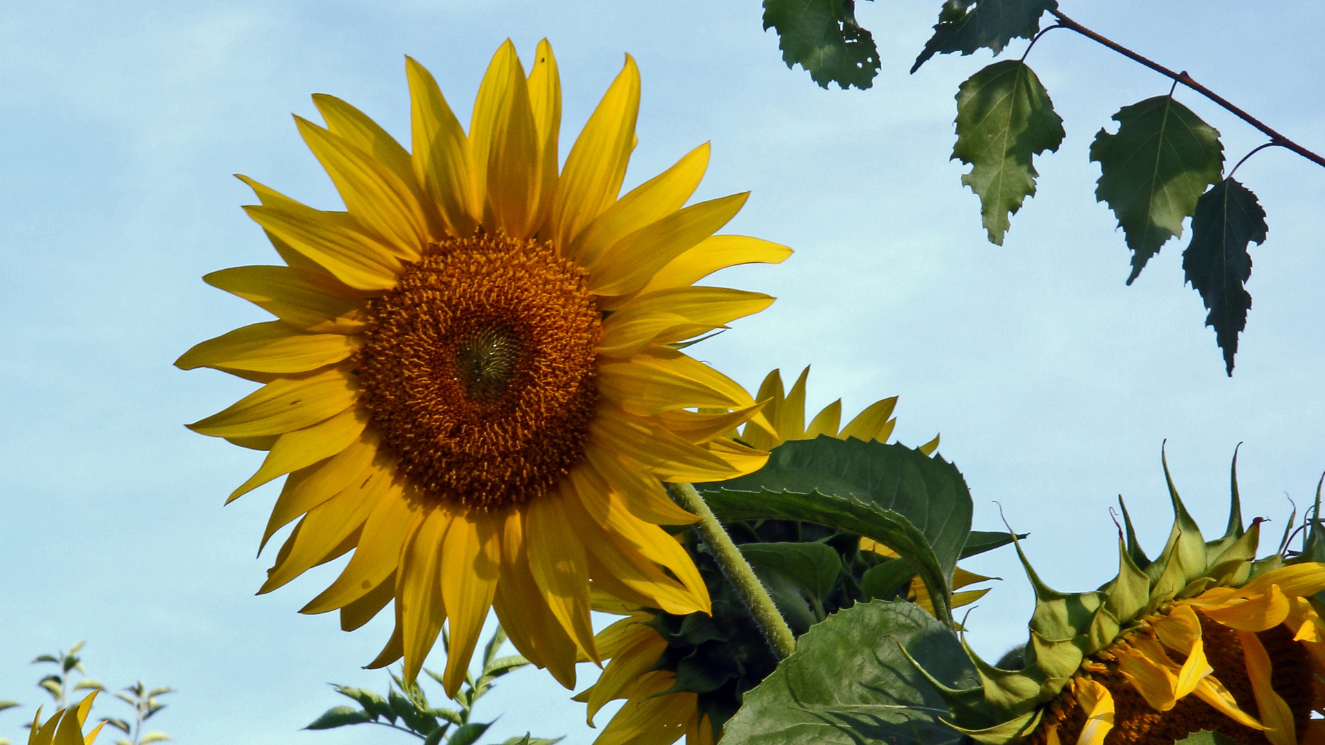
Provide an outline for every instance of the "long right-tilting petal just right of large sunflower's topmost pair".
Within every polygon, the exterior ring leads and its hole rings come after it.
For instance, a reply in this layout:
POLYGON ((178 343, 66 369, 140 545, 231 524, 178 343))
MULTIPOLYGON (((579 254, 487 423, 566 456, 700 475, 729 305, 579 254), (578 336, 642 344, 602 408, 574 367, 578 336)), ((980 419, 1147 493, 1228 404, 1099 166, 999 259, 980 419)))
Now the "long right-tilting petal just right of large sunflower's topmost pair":
POLYGON ((566 156, 550 221, 558 248, 567 249, 620 194, 635 146, 639 111, 640 72, 627 54, 625 68, 607 89, 566 156))

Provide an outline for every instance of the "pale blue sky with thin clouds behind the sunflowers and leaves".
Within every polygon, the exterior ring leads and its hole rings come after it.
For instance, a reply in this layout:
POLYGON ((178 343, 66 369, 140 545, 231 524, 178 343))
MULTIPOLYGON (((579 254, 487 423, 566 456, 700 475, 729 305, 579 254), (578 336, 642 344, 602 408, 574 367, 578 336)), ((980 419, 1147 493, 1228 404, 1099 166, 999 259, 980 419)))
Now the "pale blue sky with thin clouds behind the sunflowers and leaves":
MULTIPOLYGON (((1325 150, 1318 4, 1063 3, 1085 25, 1325 150)), ((405 741, 298 732, 339 703, 325 683, 384 687, 383 673, 359 665, 390 627, 379 619, 343 634, 334 614, 295 614, 335 567, 253 595, 277 488, 223 509, 261 456, 182 426, 250 386, 171 362, 262 319, 200 280, 274 260, 238 208, 250 194, 231 174, 339 207, 289 118, 315 118, 309 94, 342 97, 407 139, 404 54, 433 72, 468 121, 506 37, 526 57, 551 40, 564 143, 621 54, 633 54, 644 97, 628 186, 713 141, 696 199, 753 190, 727 231, 796 249, 780 266, 722 277, 779 301, 696 347, 704 359, 751 388, 772 367, 794 376, 814 363, 811 406, 843 396, 848 415, 900 395, 897 436, 918 444, 941 432, 942 453, 975 497, 975 526, 1000 526, 999 501, 1031 532, 1026 549, 1041 575, 1064 590, 1112 575, 1116 494, 1129 500, 1142 541, 1162 544, 1165 439, 1179 490, 1211 530, 1226 516, 1228 459, 1246 443, 1246 509, 1275 518, 1268 534, 1277 538, 1285 497, 1305 505, 1325 471, 1325 170, 1269 150, 1239 171, 1269 213, 1269 240, 1252 249, 1255 306, 1228 379, 1200 300, 1182 285, 1186 236, 1125 286, 1122 235, 1093 198, 1094 133, 1169 84, 1067 30, 1037 44, 1028 61, 1068 137, 1037 162, 1040 194, 994 247, 977 198, 961 187, 963 168, 947 160, 953 94, 987 53, 906 74, 937 9, 860 3, 882 72, 873 90, 825 91, 782 64, 754 0, 7 7, 0 699, 40 703, 28 660, 86 639, 89 671, 103 683, 180 689, 155 720, 179 742, 405 741)), ((1230 159, 1261 142, 1195 94, 1179 99, 1223 133, 1230 159)), ((970 619, 975 647, 996 656, 1024 639, 1030 589, 1011 553, 973 569, 1006 578, 970 619)), ((485 703, 481 713, 506 712, 497 740, 526 729, 592 737, 582 707, 543 672, 513 675, 485 703)), ((30 707, 0 713, 0 734, 21 740, 30 716, 30 707)))

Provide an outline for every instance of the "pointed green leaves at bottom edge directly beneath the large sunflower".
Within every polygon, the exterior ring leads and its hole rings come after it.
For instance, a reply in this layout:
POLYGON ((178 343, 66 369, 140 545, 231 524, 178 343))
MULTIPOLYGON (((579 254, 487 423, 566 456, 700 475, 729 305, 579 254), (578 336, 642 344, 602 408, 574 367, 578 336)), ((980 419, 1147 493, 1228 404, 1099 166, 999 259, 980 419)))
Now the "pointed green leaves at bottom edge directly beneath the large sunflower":
MULTIPOLYGON (((445 642, 445 635, 443 635, 443 644, 445 642)), ((394 687, 388 688, 386 697, 367 688, 333 684, 337 693, 352 699, 359 704, 359 708, 333 707, 305 729, 333 729, 351 724, 376 724, 413 734, 419 740, 423 740, 424 745, 441 745, 443 742, 447 745, 473 745, 492 725, 490 721, 470 721, 474 703, 492 689, 494 680, 529 664, 529 660, 518 655, 498 658, 497 652, 505 642, 506 632, 498 626, 497 631, 484 646, 484 667, 478 680, 476 681, 472 675, 466 675, 464 688, 456 695, 454 701, 460 705, 458 709, 431 705, 428 696, 417 683, 405 685, 405 681, 399 675, 392 673, 391 680, 394 687)), ((431 669, 424 669, 424 672, 437 683, 441 683, 440 675, 431 669)), ((556 740, 531 738, 529 734, 525 734, 523 737, 511 737, 502 745, 553 745, 560 740, 560 737, 556 740)))

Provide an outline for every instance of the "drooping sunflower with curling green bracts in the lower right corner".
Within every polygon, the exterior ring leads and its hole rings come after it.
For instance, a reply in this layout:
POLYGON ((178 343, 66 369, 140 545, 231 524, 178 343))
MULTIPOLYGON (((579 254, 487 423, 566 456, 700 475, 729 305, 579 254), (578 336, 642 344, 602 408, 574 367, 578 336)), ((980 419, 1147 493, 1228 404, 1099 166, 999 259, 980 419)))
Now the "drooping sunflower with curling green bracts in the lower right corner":
POLYGON ((988 745, 1169 745, 1200 730, 1243 745, 1321 741, 1310 717, 1325 712, 1325 608, 1313 595, 1325 590, 1325 565, 1283 547, 1255 559, 1261 518, 1243 528, 1236 463, 1228 528, 1215 541, 1202 538, 1171 479, 1169 492, 1163 553, 1146 558, 1124 505, 1118 575, 1097 591, 1051 590, 1018 546, 1036 595, 1031 638, 998 667, 967 648, 982 687, 930 679, 957 729, 988 745))

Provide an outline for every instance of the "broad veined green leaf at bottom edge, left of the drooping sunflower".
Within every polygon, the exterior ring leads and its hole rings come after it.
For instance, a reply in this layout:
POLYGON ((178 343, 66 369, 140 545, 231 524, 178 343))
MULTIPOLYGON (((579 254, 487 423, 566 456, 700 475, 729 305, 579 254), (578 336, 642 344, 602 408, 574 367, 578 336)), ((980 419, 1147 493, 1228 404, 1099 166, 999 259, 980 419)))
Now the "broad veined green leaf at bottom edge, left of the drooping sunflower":
POLYGON ((857 604, 796 640, 796 651, 723 728, 723 745, 955 745, 943 699, 898 644, 953 688, 980 684, 957 636, 908 602, 857 604))

